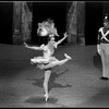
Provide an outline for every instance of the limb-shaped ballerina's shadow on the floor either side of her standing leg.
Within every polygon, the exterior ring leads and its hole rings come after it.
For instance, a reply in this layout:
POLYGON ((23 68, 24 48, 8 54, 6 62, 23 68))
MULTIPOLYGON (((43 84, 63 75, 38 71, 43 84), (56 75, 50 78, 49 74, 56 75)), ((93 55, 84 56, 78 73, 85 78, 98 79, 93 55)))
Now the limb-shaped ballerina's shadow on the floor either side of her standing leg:
MULTIPOLYGON (((53 87, 72 87, 72 85, 62 85, 60 83, 56 83, 56 78, 59 77, 60 75, 62 75, 63 73, 68 72, 69 69, 66 69, 65 71, 63 71, 60 74, 57 74, 56 72, 52 72, 49 78, 49 83, 48 83, 48 90, 50 92, 51 88, 53 87)), ((26 77, 28 81, 34 81, 33 85, 38 86, 38 87, 44 87, 44 78, 28 78, 26 77)))

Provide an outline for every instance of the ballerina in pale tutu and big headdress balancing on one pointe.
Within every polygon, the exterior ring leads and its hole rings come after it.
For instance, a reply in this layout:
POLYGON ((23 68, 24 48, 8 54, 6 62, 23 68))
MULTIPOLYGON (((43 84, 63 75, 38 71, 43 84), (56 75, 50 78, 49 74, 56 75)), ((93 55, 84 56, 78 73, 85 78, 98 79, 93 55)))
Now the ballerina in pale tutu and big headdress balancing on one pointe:
POLYGON ((44 80, 44 90, 45 95, 44 97, 47 99, 49 98, 48 94, 48 82, 51 74, 51 69, 56 65, 62 65, 69 60, 71 60, 71 57, 64 53, 65 59, 58 60, 56 57, 53 57, 55 48, 57 49, 58 45, 61 44, 66 37, 66 33, 64 34, 64 37, 58 41, 55 41, 55 36, 59 36, 57 33, 57 28, 55 27, 55 23, 51 20, 48 20, 46 22, 38 24, 37 34, 41 37, 48 36, 48 44, 41 45, 40 47, 36 46, 28 46, 27 44, 24 44, 25 47, 34 50, 43 50, 44 56, 43 57, 34 57, 31 59, 31 63, 37 63, 37 68, 45 71, 45 80, 44 80))

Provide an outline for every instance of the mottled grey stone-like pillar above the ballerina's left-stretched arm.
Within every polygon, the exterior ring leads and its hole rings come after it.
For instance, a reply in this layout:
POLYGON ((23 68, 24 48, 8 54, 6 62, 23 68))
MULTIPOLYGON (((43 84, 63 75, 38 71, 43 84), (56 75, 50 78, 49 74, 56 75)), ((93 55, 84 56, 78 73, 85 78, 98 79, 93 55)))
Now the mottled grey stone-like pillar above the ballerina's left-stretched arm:
POLYGON ((31 43, 32 39, 32 2, 13 2, 13 44, 31 43))

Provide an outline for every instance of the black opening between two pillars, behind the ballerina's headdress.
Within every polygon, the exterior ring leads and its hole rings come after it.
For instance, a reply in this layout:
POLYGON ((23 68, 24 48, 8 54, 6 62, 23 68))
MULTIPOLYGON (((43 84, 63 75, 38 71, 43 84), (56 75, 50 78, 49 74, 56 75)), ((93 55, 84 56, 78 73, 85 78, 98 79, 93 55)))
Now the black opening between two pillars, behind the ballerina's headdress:
MULTIPOLYGON (((33 35, 32 41, 37 44, 47 44, 46 37, 37 36, 38 23, 47 19, 52 19, 58 29, 60 38, 65 32, 66 22, 66 4, 65 2, 34 2, 33 3, 33 35)), ((58 38, 57 38, 58 39, 58 38)))

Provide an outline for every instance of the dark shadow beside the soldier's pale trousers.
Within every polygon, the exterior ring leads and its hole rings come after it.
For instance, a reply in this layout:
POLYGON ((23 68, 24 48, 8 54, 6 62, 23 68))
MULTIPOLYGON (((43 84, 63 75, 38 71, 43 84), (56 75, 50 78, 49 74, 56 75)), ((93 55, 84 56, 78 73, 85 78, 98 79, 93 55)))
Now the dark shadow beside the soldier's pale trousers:
POLYGON ((101 58, 100 56, 98 55, 98 52, 96 52, 96 55, 93 57, 93 63, 94 65, 99 69, 100 71, 102 70, 102 66, 101 66, 101 58))

